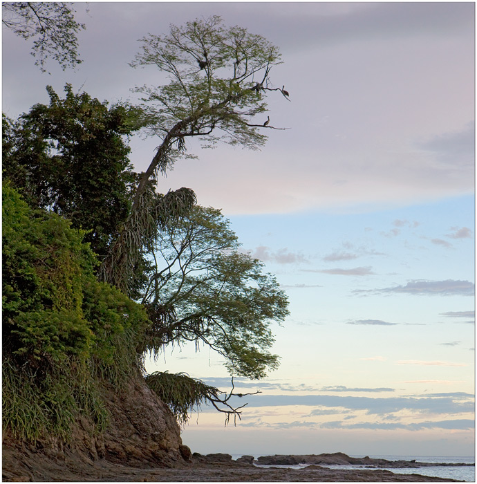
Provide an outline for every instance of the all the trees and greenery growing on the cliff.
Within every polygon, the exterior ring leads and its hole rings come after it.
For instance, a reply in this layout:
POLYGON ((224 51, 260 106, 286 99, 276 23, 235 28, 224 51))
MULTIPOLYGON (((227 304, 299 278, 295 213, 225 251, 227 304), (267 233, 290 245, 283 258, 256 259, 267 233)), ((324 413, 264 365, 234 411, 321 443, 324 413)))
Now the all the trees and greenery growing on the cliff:
MULTIPOLYGON (((279 53, 218 17, 171 32, 185 42, 172 57, 164 47, 172 37, 151 37, 136 58, 183 80, 148 91, 159 108, 109 106, 66 84, 64 98, 47 86, 48 105, 3 116, 3 429, 21 440, 68 440, 79 415, 102 431, 104 386, 120 391, 142 378, 144 357, 168 345, 221 353, 232 391, 233 375, 263 378, 278 366, 270 325, 283 321, 288 301, 276 279, 240 252, 219 210, 196 205, 189 188, 158 194, 155 185, 185 155, 187 136, 214 143, 218 128, 232 144, 263 144, 263 125, 249 118, 265 111, 265 91, 277 91, 268 75, 279 53), (232 77, 216 78, 225 68, 232 77), (135 174, 127 137, 144 127, 162 142, 135 174)), ((185 373, 146 382, 180 422, 203 402, 238 415, 232 391, 221 396, 185 373)))

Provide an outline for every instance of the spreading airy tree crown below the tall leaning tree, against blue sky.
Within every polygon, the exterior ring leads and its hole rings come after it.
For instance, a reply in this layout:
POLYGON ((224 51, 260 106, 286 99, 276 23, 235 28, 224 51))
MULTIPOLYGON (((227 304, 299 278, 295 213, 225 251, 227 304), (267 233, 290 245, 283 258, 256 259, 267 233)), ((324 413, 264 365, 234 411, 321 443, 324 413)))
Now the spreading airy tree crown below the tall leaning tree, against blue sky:
POLYGON ((203 342, 232 374, 263 378, 278 366, 270 324, 286 317, 288 301, 263 263, 238 251, 229 224, 220 210, 196 205, 158 233, 142 299, 152 322, 144 350, 203 342))

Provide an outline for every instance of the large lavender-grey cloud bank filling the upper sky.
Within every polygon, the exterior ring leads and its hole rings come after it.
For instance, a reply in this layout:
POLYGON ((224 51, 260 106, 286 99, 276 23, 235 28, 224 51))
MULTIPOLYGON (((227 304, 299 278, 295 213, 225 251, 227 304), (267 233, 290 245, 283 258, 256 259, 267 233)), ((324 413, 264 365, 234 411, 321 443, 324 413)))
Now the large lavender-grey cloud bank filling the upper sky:
MULTIPOLYGON (((297 103, 276 103, 286 107, 273 109, 279 119, 286 120, 286 126, 303 129, 270 133, 267 150, 256 155, 244 157, 239 150, 218 147, 195 166, 189 165, 191 160, 184 160, 170 174, 172 189, 194 186, 202 205, 222 207, 227 214, 282 213, 316 207, 355 210, 362 204, 380 209, 383 205, 408 205, 410 201, 471 191, 474 183, 470 176, 449 177, 433 170, 431 175, 436 173, 429 177, 420 158, 413 152, 402 152, 410 137, 433 133, 436 113, 446 112, 449 104, 454 107, 452 115, 446 117, 449 128, 443 128, 450 131, 465 113, 465 106, 471 104, 473 91, 462 89, 472 84, 469 76, 462 75, 462 71, 468 71, 465 67, 472 69, 470 59, 474 58, 468 54, 474 46, 471 3, 277 5, 93 2, 91 17, 86 13, 80 17, 88 26, 81 49, 85 62, 75 73, 59 71, 55 82, 59 86, 67 80, 81 86, 88 77, 86 91, 110 100, 127 97, 129 87, 138 82, 157 85, 157 70, 144 69, 138 74, 127 66, 138 48, 136 39, 148 31, 166 33, 171 23, 182 24, 185 8, 190 19, 222 15, 227 25, 243 25, 281 46, 285 66, 289 66, 283 73, 289 76, 290 86, 297 86, 292 94, 297 103), (108 42, 102 41, 104 30, 111 32, 108 42), (436 41, 442 42, 437 52, 433 47, 436 41), (411 46, 415 48, 411 50, 411 46), (402 55, 403 49, 409 55, 402 55), (106 70, 104 57, 111 64, 106 70), (317 96, 309 95, 315 89, 316 76, 300 75, 304 59, 310 58, 317 59, 314 69, 327 73, 317 96), (343 60, 338 69, 337 58, 343 60), (451 61, 451 72, 435 74, 451 61), (350 65, 355 68, 353 76, 348 75, 350 65), (98 68, 102 69, 100 76, 95 75, 98 68), (370 77, 370 69, 378 69, 380 75, 370 77), (395 89, 389 96, 383 86, 393 81, 395 89), (432 90, 427 89, 430 82, 432 90), (451 97, 449 92, 453 93, 451 97), (328 129, 320 133, 313 126, 318 106, 324 115, 333 113, 328 129), (419 115, 410 118, 406 115, 410 109, 419 115), (391 124, 383 123, 383 113, 389 112, 395 113, 391 124), (348 141, 335 145, 335 131, 348 134, 348 141), (379 144, 375 143, 377 136, 379 144), (255 157, 258 155, 260 158, 255 157), (230 166, 241 167, 232 178, 230 169, 224 169, 223 160, 227 158, 230 166), (295 169, 289 169, 289 160, 294 160, 295 169), (333 185, 344 173, 350 182, 333 185), (247 196, 243 196, 243 187, 247 187, 247 196)), ((6 40, 9 52, 3 59, 4 108, 18 113, 46 96, 28 49, 19 55, 23 44, 10 35, 6 40), (28 79, 27 89, 17 81, 20 68, 28 79)), ((149 141, 148 150, 152 151, 157 141, 149 141)), ((151 157, 145 148, 133 151, 136 169, 144 170, 144 160, 151 157)))

